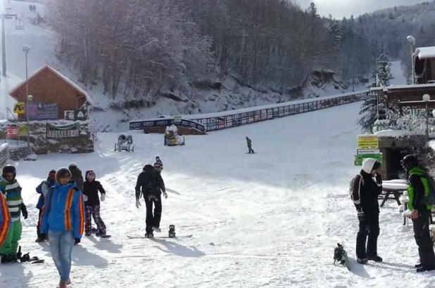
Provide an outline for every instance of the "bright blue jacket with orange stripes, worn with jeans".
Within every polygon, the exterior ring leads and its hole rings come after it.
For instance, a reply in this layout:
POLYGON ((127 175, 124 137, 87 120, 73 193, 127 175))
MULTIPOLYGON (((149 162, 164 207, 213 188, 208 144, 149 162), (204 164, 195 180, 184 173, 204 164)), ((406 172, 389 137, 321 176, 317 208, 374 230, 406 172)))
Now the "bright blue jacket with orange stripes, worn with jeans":
POLYGON ((80 239, 84 230, 83 194, 75 182, 61 185, 56 183, 45 198, 40 221, 41 233, 47 231, 73 231, 80 239))

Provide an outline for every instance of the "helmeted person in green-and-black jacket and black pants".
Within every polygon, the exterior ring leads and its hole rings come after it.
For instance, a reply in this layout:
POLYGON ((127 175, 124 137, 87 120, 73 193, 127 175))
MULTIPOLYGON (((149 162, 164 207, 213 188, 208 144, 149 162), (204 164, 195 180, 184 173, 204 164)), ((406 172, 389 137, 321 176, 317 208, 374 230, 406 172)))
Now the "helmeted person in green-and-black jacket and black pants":
POLYGON ((424 197, 431 192, 426 172, 419 167, 414 155, 403 157, 401 164, 408 175, 408 209, 412 211, 415 242, 418 246, 420 263, 415 265, 417 273, 435 270, 434 244, 429 233, 429 218, 433 205, 424 204, 424 197))

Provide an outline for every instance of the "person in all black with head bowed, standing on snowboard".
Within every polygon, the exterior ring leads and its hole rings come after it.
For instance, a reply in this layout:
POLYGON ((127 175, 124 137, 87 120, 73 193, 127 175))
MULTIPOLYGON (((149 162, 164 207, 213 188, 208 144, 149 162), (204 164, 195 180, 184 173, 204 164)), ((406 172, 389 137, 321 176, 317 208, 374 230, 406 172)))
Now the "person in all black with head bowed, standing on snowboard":
POLYGON ((141 194, 144 195, 146 205, 146 234, 145 237, 153 237, 153 231, 160 232, 160 218, 162 216, 162 199, 163 196, 168 198, 165 190, 163 178, 153 166, 145 165, 136 183, 136 207, 139 209, 141 194), (153 214, 154 204, 154 214, 153 214))

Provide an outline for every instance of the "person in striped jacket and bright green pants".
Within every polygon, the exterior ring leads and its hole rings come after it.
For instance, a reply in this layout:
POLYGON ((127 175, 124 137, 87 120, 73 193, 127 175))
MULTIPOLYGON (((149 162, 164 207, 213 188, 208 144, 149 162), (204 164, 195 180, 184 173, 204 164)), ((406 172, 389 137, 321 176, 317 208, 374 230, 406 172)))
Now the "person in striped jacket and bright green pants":
POLYGON ((27 219, 27 209, 21 197, 21 186, 16 177, 15 166, 6 165, 0 178, 0 191, 6 196, 8 211, 11 215, 11 227, 9 228, 6 240, 0 247, 1 261, 3 263, 17 261, 19 255, 18 241, 21 239, 23 226, 21 225, 21 215, 27 219))

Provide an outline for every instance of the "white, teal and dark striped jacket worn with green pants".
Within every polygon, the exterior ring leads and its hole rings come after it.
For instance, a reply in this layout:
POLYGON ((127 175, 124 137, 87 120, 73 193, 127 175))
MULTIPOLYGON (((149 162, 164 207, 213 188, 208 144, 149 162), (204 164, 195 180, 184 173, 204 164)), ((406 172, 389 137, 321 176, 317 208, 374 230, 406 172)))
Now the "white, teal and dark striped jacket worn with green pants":
POLYGON ((20 221, 21 205, 23 198, 21 197, 21 186, 17 179, 7 181, 3 176, 0 177, 0 191, 6 195, 6 202, 8 202, 9 214, 11 214, 11 221, 20 221))

